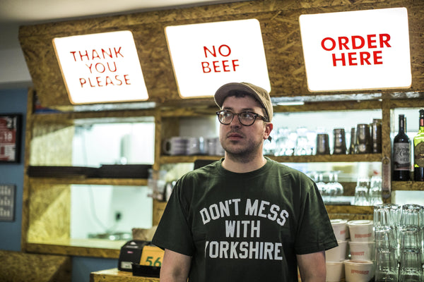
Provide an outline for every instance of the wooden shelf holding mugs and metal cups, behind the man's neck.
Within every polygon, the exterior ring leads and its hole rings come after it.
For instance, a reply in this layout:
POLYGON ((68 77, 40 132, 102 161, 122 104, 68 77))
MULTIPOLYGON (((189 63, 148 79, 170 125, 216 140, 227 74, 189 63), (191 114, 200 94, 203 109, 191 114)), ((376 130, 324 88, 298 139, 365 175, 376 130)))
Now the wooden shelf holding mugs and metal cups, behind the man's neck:
MULTIPOLYGON (((161 164, 192 163, 196 159, 218 160, 223 156, 161 156, 161 164)), ((332 154, 317 156, 266 156, 280 163, 382 161, 382 154, 332 154)))

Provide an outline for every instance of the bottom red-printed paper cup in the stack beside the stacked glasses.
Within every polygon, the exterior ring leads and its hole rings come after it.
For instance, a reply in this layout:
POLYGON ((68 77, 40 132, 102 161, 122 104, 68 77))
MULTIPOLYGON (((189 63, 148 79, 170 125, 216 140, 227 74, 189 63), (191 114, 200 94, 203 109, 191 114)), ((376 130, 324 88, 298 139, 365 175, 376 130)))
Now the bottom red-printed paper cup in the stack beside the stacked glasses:
POLYGON ((344 261, 346 282, 368 282, 374 277, 374 264, 370 260, 344 261))

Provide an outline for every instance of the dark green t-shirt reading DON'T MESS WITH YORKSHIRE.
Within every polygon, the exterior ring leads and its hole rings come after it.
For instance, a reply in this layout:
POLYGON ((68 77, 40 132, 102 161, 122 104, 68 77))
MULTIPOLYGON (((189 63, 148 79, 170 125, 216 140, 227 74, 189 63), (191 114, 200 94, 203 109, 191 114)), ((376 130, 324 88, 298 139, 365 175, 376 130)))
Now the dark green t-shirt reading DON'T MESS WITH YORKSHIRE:
POLYGON ((192 256, 189 281, 298 281, 296 254, 337 246, 317 186, 267 158, 249 173, 221 161, 177 181, 153 244, 192 256))

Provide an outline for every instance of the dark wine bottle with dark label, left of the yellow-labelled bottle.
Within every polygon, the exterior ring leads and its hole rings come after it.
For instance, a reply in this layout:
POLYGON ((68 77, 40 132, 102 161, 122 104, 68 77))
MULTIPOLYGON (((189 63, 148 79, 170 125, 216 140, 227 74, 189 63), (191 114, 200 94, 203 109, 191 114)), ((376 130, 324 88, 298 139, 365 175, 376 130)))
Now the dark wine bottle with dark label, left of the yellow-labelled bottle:
POLYGON ((408 181, 411 174, 411 140, 405 133, 405 115, 399 115, 399 133, 393 140, 393 180, 408 181))

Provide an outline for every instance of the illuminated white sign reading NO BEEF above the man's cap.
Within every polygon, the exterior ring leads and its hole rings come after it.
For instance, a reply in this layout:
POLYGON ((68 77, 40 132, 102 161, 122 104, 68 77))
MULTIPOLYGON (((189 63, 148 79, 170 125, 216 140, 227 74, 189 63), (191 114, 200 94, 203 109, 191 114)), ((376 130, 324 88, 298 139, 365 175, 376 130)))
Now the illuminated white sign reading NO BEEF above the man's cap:
POLYGON ((165 28, 181 97, 210 97, 228 82, 250 82, 271 91, 256 19, 165 28))

